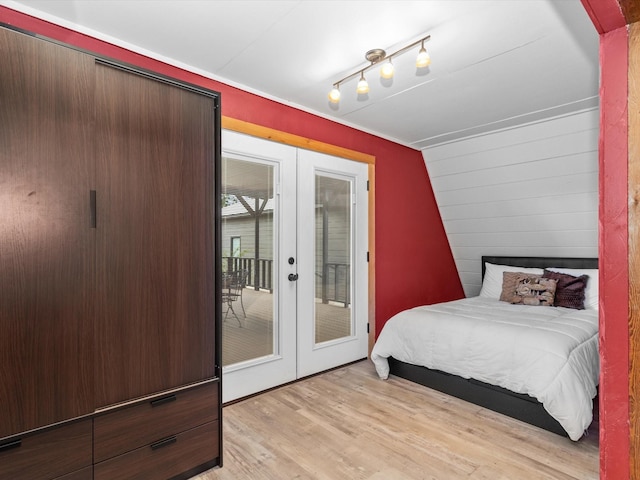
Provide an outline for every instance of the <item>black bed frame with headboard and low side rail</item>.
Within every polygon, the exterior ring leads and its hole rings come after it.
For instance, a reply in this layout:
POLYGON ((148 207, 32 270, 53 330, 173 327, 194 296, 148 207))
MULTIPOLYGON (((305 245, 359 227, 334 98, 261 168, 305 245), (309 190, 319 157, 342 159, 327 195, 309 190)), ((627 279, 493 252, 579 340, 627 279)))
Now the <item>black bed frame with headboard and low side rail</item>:
MULTIPOLYGON (((483 256, 483 278, 485 262, 516 267, 598 268, 597 258, 483 256)), ((536 398, 529 395, 514 393, 502 387, 474 379, 465 379, 439 370, 404 363, 393 357, 389 358, 389 368, 390 373, 398 377, 567 436, 567 432, 558 421, 547 413, 536 398)))

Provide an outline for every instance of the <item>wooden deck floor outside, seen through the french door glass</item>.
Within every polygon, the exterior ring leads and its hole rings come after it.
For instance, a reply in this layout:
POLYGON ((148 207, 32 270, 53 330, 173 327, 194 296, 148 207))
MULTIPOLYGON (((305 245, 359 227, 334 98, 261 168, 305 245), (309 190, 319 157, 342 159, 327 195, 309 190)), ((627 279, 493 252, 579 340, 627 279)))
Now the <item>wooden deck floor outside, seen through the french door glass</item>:
MULTIPOLYGON (((269 292, 245 288, 242 303, 233 303, 233 312, 222 325, 222 364, 224 366, 273 353, 273 298, 269 292)), ((349 334, 351 310, 342 305, 316 303, 318 343, 349 334)), ((223 316, 225 308, 223 307, 223 316)))

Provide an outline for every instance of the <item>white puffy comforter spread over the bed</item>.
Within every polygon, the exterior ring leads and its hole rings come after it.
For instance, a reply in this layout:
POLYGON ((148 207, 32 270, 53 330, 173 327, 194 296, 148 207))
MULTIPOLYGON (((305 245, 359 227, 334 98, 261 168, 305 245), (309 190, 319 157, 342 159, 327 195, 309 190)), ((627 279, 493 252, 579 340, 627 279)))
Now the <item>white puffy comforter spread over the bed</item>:
POLYGON ((531 395, 578 440, 598 385, 598 312, 484 297, 416 307, 380 332, 371 359, 382 379, 390 356, 531 395))

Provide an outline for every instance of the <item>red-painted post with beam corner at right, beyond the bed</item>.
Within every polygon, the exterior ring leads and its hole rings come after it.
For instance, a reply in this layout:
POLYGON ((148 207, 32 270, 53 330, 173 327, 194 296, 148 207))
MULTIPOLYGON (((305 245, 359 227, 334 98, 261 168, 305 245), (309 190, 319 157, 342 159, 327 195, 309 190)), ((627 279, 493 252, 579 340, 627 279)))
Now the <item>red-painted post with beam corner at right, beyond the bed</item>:
POLYGON ((628 58, 617 0, 582 0, 600 33, 600 478, 629 462, 628 58))

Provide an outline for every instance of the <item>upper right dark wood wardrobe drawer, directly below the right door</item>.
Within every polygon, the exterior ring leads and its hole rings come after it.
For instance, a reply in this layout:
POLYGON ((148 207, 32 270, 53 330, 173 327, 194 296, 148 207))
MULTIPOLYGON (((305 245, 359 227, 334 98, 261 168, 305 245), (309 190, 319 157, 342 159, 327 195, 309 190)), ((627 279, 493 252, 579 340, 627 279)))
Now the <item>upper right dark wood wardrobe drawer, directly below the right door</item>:
POLYGON ((96 463, 218 419, 218 383, 208 383, 96 416, 96 463))

